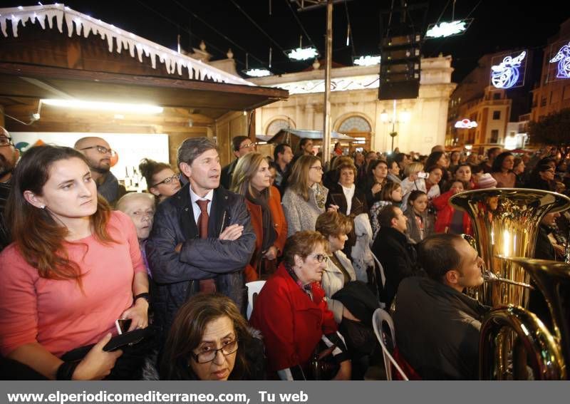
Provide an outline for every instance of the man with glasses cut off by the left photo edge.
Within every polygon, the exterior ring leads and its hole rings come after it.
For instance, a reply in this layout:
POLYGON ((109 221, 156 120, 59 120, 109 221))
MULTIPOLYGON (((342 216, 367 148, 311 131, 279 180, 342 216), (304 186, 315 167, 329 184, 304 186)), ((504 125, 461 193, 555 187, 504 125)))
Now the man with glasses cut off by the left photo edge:
POLYGON ((16 162, 20 157, 20 152, 8 131, 0 126, 0 251, 10 244, 10 234, 4 220, 4 207, 12 187, 12 171, 16 167, 16 162))

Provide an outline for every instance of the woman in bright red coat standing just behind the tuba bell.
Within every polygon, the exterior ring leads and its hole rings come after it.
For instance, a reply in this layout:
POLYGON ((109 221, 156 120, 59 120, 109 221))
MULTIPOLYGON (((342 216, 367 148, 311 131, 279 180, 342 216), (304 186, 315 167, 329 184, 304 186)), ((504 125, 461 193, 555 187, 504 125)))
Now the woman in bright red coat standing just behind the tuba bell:
POLYGON ((469 185, 465 181, 454 180, 447 192, 432 200, 432 204, 437 209, 437 219, 435 220, 436 233, 453 234, 473 234, 471 219, 467 212, 456 210, 450 204, 450 197, 459 192, 468 190, 469 185))

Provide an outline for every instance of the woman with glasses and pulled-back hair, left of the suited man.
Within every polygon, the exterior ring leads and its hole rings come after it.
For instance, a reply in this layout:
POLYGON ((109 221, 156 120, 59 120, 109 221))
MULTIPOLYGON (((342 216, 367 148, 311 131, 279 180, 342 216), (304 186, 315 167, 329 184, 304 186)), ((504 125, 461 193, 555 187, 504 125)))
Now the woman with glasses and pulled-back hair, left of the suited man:
POLYGON ((155 195, 157 202, 162 202, 180 190, 180 177, 170 164, 143 158, 138 168, 142 177, 145 177, 148 192, 155 195))

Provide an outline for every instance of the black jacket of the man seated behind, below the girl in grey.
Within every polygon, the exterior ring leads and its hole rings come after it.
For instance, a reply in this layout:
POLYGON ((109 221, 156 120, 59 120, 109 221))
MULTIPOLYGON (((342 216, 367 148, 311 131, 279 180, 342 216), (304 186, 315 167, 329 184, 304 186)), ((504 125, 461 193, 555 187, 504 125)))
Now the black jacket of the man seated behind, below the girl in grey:
POLYGON ((382 264, 386 277, 384 296, 380 300, 385 302, 386 307, 390 307, 400 281, 417 272, 415 248, 408 243, 405 234, 389 227, 380 228, 372 252, 382 264))

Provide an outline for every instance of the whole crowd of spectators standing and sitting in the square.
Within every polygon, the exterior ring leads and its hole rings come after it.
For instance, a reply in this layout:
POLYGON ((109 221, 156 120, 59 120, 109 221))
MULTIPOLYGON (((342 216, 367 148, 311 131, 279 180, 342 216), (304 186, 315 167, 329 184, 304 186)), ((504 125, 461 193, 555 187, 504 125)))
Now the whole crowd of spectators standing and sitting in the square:
MULTIPOLYGON (((3 375, 362 380, 381 363, 372 314, 397 300, 398 355, 418 377, 476 378, 489 308, 462 294, 482 283, 481 259, 450 197, 564 192, 570 178, 554 148, 492 147, 480 161, 441 146, 344 155, 336 145, 327 165, 310 139, 271 157, 244 136, 232 148, 222 168, 211 139, 189 138, 177 167, 140 162, 148 192, 125 193, 104 139, 20 156, 1 128, 3 375), (258 280, 247 318, 246 283, 258 280)), ((543 219, 537 256, 565 254, 561 219, 543 219)))

